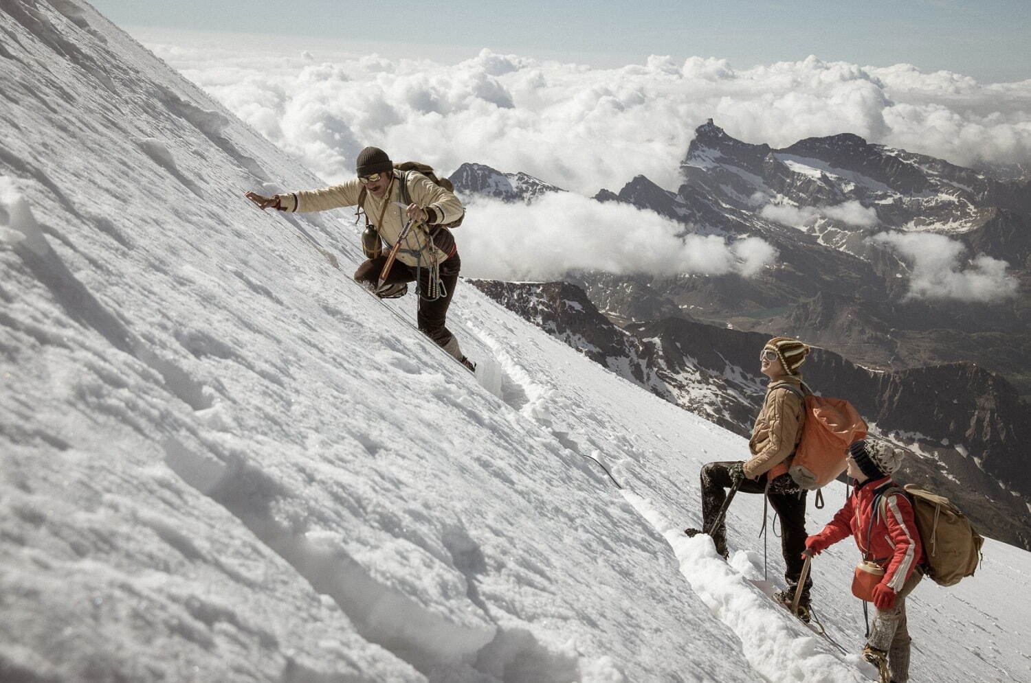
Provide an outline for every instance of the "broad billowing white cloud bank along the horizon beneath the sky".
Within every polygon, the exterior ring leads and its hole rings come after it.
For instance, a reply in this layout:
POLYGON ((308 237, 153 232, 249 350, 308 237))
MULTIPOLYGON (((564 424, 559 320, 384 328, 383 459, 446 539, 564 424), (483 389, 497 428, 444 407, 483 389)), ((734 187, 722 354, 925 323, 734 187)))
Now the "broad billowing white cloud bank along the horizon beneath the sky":
POLYGON ((593 195, 643 173, 675 189, 694 129, 784 146, 851 132, 959 164, 1031 161, 1031 80, 982 84, 816 58, 751 69, 692 57, 596 69, 483 50, 458 64, 141 36, 329 181, 366 144, 451 172, 475 161, 593 195))

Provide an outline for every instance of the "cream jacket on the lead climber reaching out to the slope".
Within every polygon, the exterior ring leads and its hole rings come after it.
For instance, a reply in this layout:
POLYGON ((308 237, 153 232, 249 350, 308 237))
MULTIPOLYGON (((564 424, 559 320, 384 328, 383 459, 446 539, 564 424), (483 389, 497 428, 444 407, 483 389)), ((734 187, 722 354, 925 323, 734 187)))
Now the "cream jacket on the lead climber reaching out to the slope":
MULTIPOLYGON (((408 198, 411 203, 418 204, 427 209, 430 214, 427 227, 420 224, 408 232, 398 251, 397 259, 408 266, 430 265, 430 252, 427 245, 431 244, 428 230, 432 228, 436 238, 432 240, 432 255, 437 263, 445 261, 455 253, 454 238, 447 235, 448 239, 440 239, 442 235, 437 235, 437 231, 446 231, 446 228, 437 227, 439 224, 458 220, 465 209, 453 193, 447 192, 436 184, 422 173, 415 171, 391 171, 394 179, 390 190, 383 197, 375 197, 372 193, 365 193, 365 204, 362 207, 369 216, 369 223, 376 226, 379 236, 387 242, 388 246, 393 246, 404 225, 408 221, 407 213, 403 208, 394 204, 402 202, 401 182, 407 183, 408 198), (386 206, 385 206, 386 204, 386 206), (379 216, 383 215, 383 220, 379 216), (445 247, 441 248, 440 245, 445 247)), ((287 211, 307 213, 310 211, 325 211, 341 206, 356 206, 359 195, 362 192, 362 183, 355 178, 338 185, 323 187, 322 190, 300 191, 279 195, 279 201, 287 211)))

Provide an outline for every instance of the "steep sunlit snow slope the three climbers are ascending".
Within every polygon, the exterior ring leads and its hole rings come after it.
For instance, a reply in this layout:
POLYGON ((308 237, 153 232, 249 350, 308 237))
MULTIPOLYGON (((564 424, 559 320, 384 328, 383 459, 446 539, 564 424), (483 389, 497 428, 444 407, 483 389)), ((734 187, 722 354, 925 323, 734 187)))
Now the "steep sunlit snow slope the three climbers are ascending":
MULTIPOLYGON (((730 567, 679 534, 741 438, 460 285, 469 375, 351 280, 348 212, 241 197, 317 177, 89 5, 0 5, 0 680, 870 675, 749 581, 757 497, 730 567)), ((914 680, 1029 678, 1031 561, 986 557, 914 594, 914 680)), ((814 591, 852 653, 855 560, 814 591)))

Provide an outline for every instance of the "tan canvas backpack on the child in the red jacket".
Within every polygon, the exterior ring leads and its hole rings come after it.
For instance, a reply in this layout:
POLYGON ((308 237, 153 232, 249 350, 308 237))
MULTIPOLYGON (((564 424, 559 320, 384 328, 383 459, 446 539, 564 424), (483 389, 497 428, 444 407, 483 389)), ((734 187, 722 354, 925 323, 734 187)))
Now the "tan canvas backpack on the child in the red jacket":
POLYGON ((885 514, 889 493, 903 493, 912 504, 917 528, 927 555, 927 576, 940 586, 952 586, 964 577, 973 576, 980 565, 980 547, 985 539, 974 531, 970 520, 947 498, 906 484, 905 489, 893 486, 880 497, 880 514, 885 514))

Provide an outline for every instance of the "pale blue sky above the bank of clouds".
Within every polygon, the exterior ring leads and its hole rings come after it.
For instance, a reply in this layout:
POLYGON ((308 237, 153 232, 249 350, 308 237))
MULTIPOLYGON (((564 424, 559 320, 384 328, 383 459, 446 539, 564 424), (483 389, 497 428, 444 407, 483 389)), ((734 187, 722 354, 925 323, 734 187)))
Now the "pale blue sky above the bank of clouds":
POLYGON ((983 81, 1031 78, 1031 1, 600 0, 590 3, 93 0, 124 27, 280 33, 378 52, 407 43, 452 60, 481 47, 593 66, 648 55, 718 57, 738 68, 799 60, 914 64, 983 81))

